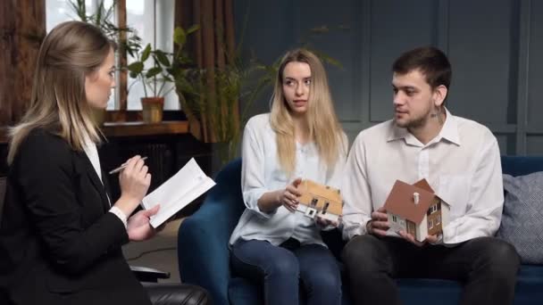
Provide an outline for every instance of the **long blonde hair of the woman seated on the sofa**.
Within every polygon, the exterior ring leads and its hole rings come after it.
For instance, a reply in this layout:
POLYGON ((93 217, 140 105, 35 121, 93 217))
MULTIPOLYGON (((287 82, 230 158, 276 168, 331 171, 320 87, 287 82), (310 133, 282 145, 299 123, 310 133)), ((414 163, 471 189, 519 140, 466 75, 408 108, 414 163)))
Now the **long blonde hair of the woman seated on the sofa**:
POLYGON ((294 123, 283 93, 283 72, 288 62, 305 62, 311 69, 308 109, 306 112, 310 139, 316 144, 319 155, 328 169, 338 161, 339 152, 347 149, 343 129, 339 125, 330 95, 326 71, 319 58, 305 50, 296 49, 283 56, 275 79, 272 96, 272 129, 276 133, 277 151, 281 168, 289 175, 296 165, 296 139, 294 123))

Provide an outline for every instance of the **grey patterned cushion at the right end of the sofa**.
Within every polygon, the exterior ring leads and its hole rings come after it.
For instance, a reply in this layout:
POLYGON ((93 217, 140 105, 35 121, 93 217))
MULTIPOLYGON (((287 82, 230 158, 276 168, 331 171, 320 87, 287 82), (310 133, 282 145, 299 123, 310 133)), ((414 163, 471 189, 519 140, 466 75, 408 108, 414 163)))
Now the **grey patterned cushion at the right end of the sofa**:
POLYGON ((504 175, 505 204, 497 237, 516 248, 523 264, 543 264, 543 172, 504 175))

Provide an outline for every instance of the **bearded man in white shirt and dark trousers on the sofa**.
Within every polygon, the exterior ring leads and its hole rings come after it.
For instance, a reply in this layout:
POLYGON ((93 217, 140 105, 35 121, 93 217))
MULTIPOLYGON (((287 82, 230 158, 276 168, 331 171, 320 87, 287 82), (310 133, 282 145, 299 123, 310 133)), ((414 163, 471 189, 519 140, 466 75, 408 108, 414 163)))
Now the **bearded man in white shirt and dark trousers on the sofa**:
POLYGON ((445 107, 452 71, 438 49, 406 52, 392 70, 394 119, 356 137, 341 189, 342 258, 355 304, 399 304, 400 277, 460 281, 462 304, 512 303, 519 257, 493 237, 504 204, 496 137, 445 107), (419 243, 388 230, 383 204, 397 179, 422 178, 451 213, 442 235, 419 243))

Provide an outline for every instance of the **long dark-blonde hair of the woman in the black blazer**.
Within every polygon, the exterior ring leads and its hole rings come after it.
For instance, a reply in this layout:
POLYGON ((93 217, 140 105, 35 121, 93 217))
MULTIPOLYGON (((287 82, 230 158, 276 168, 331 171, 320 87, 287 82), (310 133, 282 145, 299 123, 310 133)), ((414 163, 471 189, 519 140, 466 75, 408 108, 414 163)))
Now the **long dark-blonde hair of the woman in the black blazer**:
POLYGON ((63 22, 49 32, 39 49, 29 109, 10 129, 8 164, 12 164, 21 143, 35 128, 61 136, 77 151, 83 149, 87 138, 100 143, 99 129, 87 102, 85 79, 112 48, 113 41, 85 22, 63 22))

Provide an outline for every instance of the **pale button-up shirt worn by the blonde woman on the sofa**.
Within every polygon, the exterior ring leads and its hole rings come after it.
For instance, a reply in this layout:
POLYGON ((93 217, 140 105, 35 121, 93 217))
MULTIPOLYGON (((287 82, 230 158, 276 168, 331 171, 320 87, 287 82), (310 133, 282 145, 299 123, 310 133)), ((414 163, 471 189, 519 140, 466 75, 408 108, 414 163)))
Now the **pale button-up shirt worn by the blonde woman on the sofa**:
MULTIPOLYGON (((347 137, 343 136, 347 147, 347 137)), ((315 144, 297 144, 296 168, 292 177, 288 177, 280 168, 270 114, 251 118, 246 124, 242 145, 241 189, 246 210, 230 236, 230 244, 242 238, 265 240, 279 245, 289 237, 296 238, 302 244, 324 244, 320 227, 315 225, 312 218, 305 217, 301 212, 290 212, 284 206, 265 213, 258 208, 257 202, 264 193, 284 189, 297 177, 338 188, 347 149, 338 147, 338 150, 338 162, 329 170, 321 161, 315 144)))

